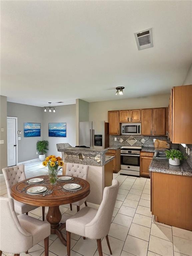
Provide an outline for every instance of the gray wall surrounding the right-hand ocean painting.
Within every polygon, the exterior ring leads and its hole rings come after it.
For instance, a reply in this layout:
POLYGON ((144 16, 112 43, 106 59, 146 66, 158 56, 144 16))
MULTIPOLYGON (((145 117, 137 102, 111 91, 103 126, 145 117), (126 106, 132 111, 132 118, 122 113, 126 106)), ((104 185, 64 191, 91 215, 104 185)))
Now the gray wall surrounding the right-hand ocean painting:
POLYGON ((57 151, 57 143, 69 143, 71 146, 76 145, 76 116, 75 116, 75 104, 57 106, 56 112, 44 112, 43 113, 43 140, 49 141, 48 155, 61 156, 61 153, 57 151), (67 136, 62 137, 49 137, 48 124, 49 123, 67 123, 67 136))

